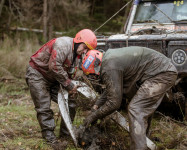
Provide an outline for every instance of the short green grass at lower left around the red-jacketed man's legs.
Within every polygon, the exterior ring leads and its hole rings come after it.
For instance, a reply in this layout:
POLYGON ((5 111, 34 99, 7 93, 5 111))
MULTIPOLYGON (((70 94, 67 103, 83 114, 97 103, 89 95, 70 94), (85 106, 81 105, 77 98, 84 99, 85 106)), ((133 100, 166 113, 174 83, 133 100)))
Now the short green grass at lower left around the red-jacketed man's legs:
MULTIPOLYGON (((41 137, 36 112, 24 80, 0 84, 0 149, 52 150, 41 137), (18 86, 19 84, 19 86, 18 86)), ((52 103, 55 122, 58 105, 52 103)), ((59 135, 60 118, 55 134, 59 135)), ((76 119, 78 121, 78 119, 76 119)), ((80 122, 80 121, 78 121, 80 122)), ((75 149, 71 138, 67 149, 75 149)))

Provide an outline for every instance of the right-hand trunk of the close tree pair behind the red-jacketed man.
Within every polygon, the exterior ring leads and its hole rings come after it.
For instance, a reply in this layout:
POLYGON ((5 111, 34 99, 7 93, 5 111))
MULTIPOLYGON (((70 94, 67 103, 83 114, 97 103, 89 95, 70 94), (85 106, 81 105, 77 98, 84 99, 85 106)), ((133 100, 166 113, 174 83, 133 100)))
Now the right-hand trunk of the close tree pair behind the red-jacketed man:
POLYGON ((53 37, 53 7, 54 7, 54 0, 49 0, 49 14, 48 14, 48 39, 52 39, 53 37))

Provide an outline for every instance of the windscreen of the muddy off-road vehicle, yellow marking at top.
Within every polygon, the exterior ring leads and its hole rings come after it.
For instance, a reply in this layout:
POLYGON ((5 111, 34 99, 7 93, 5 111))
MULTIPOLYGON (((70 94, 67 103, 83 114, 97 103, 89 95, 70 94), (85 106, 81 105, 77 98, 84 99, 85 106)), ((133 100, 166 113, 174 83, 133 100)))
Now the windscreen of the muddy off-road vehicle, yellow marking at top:
POLYGON ((134 23, 171 23, 171 20, 187 20, 187 0, 142 2, 138 5, 134 23))

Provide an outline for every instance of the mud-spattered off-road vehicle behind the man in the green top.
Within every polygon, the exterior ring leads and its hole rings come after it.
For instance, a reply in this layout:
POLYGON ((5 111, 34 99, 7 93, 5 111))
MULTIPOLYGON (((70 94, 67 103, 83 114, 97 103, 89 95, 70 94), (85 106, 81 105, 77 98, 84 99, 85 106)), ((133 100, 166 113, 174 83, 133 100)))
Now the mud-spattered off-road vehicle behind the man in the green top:
POLYGON ((134 0, 124 32, 98 39, 98 49, 142 46, 171 58, 179 76, 167 98, 187 120, 187 0, 134 0))

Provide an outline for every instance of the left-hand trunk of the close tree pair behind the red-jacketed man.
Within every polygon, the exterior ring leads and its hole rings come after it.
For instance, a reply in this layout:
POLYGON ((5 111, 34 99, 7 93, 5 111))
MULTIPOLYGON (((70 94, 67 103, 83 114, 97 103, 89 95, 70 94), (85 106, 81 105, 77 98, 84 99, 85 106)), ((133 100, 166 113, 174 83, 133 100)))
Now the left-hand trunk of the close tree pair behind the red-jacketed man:
POLYGON ((43 39, 46 42, 47 39, 47 0, 44 0, 43 4, 43 39))

